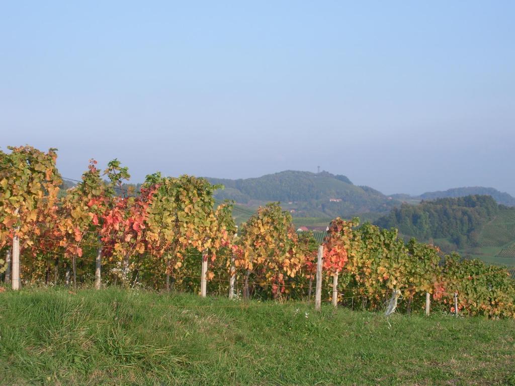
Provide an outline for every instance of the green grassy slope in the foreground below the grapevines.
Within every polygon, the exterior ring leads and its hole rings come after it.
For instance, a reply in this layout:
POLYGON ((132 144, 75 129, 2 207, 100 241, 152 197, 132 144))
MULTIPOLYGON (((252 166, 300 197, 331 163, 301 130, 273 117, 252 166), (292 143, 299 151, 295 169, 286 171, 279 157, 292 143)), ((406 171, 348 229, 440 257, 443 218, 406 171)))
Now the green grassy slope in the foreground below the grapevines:
POLYGON ((195 295, 0 294, 3 385, 510 385, 515 321, 195 295))

